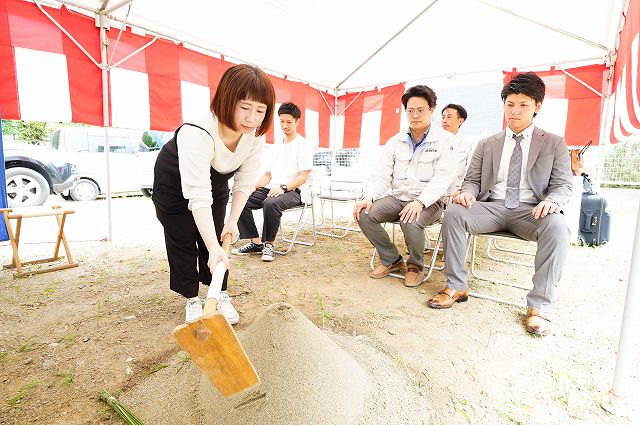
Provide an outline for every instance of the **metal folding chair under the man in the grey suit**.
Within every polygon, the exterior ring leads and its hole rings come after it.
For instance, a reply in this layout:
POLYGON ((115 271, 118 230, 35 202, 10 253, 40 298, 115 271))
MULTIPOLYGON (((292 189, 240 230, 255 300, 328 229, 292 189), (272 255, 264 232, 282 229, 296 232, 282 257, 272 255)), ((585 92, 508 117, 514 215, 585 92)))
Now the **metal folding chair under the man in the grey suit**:
MULTIPOLYGON (((515 250, 515 249, 508 249, 508 248, 504 248, 504 247, 500 247, 499 245, 497 245, 497 241, 519 241, 519 242, 525 242, 529 245, 537 245, 537 243, 535 241, 528 241, 526 239, 523 239, 519 236, 514 235, 511 232, 506 232, 506 231, 500 231, 500 232, 492 232, 492 233, 478 233, 478 234, 470 234, 469 235, 469 244, 467 246, 467 252, 469 251, 469 248, 471 249, 471 258, 469 260, 469 270, 471 272, 471 275, 478 279, 478 280, 485 280, 494 284, 499 284, 499 285, 504 285, 504 286, 511 286, 514 288, 519 288, 519 289, 526 289, 526 290, 530 290, 531 289, 531 284, 527 284, 527 285, 523 285, 523 284, 519 284, 517 282, 510 282, 510 281, 505 281, 505 280, 501 280, 501 279, 496 279, 490 276, 487 276, 485 274, 481 274, 477 269, 476 269, 476 248, 477 248, 477 243, 478 243, 478 238, 488 238, 489 240, 487 241, 487 256, 488 258, 498 261, 498 262, 502 262, 502 263, 506 263, 506 264, 516 264, 516 265, 524 265, 524 266, 529 266, 529 267, 533 267, 533 264, 531 264, 531 262, 525 263, 522 261, 516 261, 516 260, 511 260, 508 258, 504 258, 504 257, 496 257, 494 255, 491 254, 491 248, 492 246, 498 250, 498 251, 503 251, 503 252, 511 252, 511 253, 515 253, 515 254, 520 254, 520 255, 535 255, 535 253, 532 253, 530 251, 523 251, 523 250, 515 250)), ((512 301, 508 301, 502 298, 498 298, 498 297, 493 297, 490 295, 485 295, 485 294, 481 294, 478 292, 474 292, 474 291, 469 291, 469 295, 475 298, 482 298, 482 299, 486 299, 489 301, 496 301, 499 303, 503 303, 503 304, 508 304, 508 305, 513 305, 516 307, 524 307, 526 308, 526 304, 522 304, 522 303, 515 303, 512 301)))

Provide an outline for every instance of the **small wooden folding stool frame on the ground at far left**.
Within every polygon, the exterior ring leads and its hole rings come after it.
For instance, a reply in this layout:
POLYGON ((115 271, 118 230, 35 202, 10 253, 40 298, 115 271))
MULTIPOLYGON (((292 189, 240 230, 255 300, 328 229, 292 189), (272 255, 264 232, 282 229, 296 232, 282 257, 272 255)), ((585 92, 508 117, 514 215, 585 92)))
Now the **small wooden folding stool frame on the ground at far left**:
POLYGON ((9 234, 9 240, 11 241, 11 248, 13 249, 13 261, 11 264, 6 264, 2 266, 5 269, 15 268, 18 271, 13 274, 14 277, 24 277, 32 274, 40 274, 52 272, 55 270, 64 270, 69 269, 71 267, 78 267, 78 263, 73 262, 71 258, 71 251, 69 250, 69 245, 67 244, 67 238, 64 236, 64 223, 67 219, 67 214, 73 214, 75 211, 73 210, 61 210, 60 206, 55 205, 52 206, 50 210, 44 211, 34 211, 27 213, 14 213, 13 210, 9 208, 0 209, 2 215, 4 217, 4 222, 7 226, 7 233, 9 234), (22 228, 22 219, 29 217, 46 217, 46 216, 55 216, 58 222, 58 238, 56 239, 56 246, 53 250, 53 257, 51 258, 43 258, 40 260, 32 260, 32 261, 20 261, 20 256, 18 255, 18 245, 20 244, 20 230, 22 228), (13 228, 11 227, 12 219, 16 220, 16 228, 15 233, 13 228), (41 268, 33 271, 25 271, 23 266, 29 264, 42 264, 42 263, 50 263, 52 261, 58 261, 64 259, 62 256, 58 256, 58 252, 60 251, 60 242, 62 242, 64 246, 64 250, 67 254, 67 264, 62 264, 58 266, 50 266, 46 268, 41 268))

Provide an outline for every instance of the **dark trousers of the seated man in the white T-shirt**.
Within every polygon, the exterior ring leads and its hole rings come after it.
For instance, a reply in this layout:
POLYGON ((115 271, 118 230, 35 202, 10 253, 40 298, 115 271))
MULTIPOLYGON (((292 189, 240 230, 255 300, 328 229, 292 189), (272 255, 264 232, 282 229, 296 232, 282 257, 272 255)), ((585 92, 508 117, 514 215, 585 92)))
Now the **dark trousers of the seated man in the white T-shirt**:
POLYGON ((268 197, 269 189, 261 187, 256 189, 245 205, 240 219, 238 220, 238 229, 240 230, 240 238, 251 239, 257 238, 258 229, 253 219, 253 210, 262 208, 264 217, 262 223, 262 242, 274 241, 280 228, 280 220, 282 219, 282 211, 300 205, 300 191, 298 189, 283 193, 276 197, 268 197))

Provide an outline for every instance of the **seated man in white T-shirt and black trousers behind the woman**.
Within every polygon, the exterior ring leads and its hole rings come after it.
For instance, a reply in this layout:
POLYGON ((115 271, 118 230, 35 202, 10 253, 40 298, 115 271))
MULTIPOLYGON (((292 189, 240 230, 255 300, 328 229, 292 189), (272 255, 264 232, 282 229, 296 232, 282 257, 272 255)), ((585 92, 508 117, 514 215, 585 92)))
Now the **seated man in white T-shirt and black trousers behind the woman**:
POLYGON ((262 261, 275 260, 275 241, 282 211, 302 202, 301 193, 306 189, 307 179, 313 165, 313 148, 298 134, 300 108, 291 102, 283 103, 278 109, 283 140, 269 150, 267 171, 256 183, 256 190, 249 196, 238 228, 241 239, 250 241, 232 254, 261 254, 262 261), (253 210, 262 208, 262 238, 258 234, 253 218, 253 210))

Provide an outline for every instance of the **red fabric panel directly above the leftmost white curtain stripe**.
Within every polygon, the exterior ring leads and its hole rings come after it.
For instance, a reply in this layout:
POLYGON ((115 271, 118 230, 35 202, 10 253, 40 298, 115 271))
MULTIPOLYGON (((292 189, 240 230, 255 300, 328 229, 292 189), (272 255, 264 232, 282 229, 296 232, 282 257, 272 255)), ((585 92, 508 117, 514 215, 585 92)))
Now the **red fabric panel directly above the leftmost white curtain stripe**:
MULTIPOLYGON (((60 10, 43 8, 53 19, 60 22, 60 10)), ((15 47, 63 53, 62 32, 35 5, 26 1, 7 1, 9 30, 15 47)))

